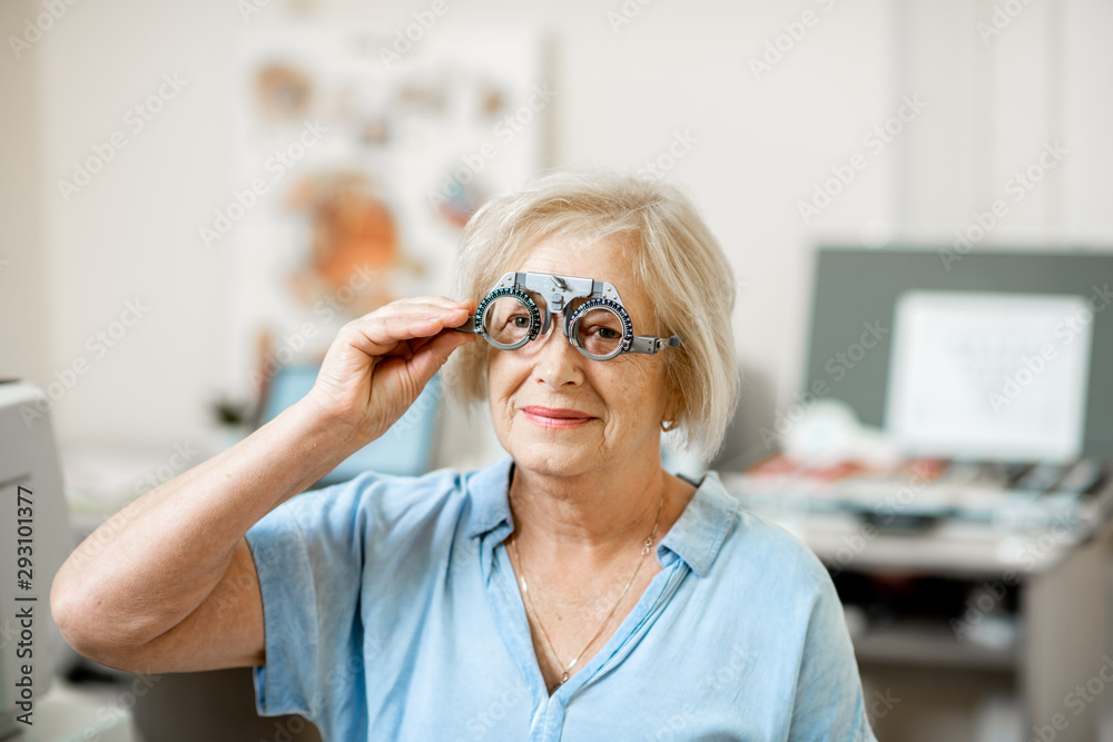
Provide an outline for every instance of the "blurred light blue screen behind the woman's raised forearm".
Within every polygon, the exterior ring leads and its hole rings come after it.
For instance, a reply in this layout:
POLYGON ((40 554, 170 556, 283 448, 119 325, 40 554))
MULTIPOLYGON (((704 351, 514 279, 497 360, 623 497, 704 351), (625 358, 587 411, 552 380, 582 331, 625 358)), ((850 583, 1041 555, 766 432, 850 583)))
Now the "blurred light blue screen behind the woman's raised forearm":
MULTIPOLYGON (((313 388, 317 370, 316 366, 283 366, 272 380, 264 400, 263 423, 274 419, 304 397, 313 388)), ((432 457, 441 395, 441 379, 436 375, 386 433, 341 462, 316 486, 346 482, 361 472, 403 476, 424 474, 432 457)))

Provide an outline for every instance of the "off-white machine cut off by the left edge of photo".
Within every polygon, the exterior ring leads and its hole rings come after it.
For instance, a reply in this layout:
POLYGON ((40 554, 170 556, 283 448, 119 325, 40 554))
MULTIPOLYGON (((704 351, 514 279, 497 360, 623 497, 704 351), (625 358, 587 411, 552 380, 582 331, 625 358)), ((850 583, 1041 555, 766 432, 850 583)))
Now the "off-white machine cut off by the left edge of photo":
POLYGON ((73 548, 41 389, 0 380, 0 740, 30 736, 63 646, 50 584, 73 548))

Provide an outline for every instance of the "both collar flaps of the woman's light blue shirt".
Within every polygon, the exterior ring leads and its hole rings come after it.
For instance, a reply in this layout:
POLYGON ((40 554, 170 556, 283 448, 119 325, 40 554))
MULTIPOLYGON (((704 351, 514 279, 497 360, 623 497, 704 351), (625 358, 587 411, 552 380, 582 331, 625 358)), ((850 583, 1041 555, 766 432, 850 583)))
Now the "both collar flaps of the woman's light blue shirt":
MULTIPOLYGON (((465 531, 469 537, 480 537, 502 523, 513 525, 509 501, 512 464, 513 459, 504 456, 469 477, 467 492, 472 503, 465 531)), ((737 508, 738 501, 727 493, 719 474, 708 472, 684 512, 657 545, 658 561, 667 564, 666 555, 671 552, 698 576, 707 576, 727 538, 737 508)), ((508 528, 506 534, 511 531, 508 528)))

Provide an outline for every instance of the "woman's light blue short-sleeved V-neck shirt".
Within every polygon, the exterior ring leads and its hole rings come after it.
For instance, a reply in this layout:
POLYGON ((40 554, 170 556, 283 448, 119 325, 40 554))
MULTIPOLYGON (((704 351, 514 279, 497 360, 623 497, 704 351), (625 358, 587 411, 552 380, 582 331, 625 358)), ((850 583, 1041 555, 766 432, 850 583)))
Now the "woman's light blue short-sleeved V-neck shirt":
POLYGON ((827 571, 713 472, 638 604, 550 696, 503 545, 511 464, 365 473, 259 521, 259 713, 328 742, 875 740, 827 571))

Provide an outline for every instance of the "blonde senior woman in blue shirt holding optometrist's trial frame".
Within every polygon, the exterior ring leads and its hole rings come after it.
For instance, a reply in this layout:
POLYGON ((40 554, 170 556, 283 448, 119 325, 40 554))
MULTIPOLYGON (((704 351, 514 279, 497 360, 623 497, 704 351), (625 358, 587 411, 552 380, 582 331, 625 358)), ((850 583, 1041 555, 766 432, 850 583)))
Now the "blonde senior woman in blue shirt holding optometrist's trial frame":
POLYGON ((730 267, 674 187, 558 174, 469 222, 457 296, 348 323, 312 392, 146 494, 51 603, 144 672, 254 665, 327 740, 873 740, 838 597, 709 458, 737 388, 730 267), (453 356, 508 456, 301 494, 453 356))

